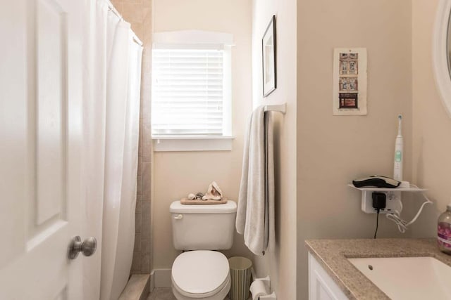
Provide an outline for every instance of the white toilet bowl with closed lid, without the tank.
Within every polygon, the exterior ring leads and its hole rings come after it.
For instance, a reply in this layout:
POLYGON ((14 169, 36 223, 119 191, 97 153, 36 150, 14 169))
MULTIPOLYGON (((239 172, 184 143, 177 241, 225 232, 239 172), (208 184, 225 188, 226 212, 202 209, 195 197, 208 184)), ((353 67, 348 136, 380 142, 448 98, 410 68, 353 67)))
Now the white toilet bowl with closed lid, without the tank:
POLYGON ((184 252, 173 263, 171 280, 173 289, 187 299, 208 298, 223 292, 227 294, 230 289, 228 260, 216 251, 184 252))

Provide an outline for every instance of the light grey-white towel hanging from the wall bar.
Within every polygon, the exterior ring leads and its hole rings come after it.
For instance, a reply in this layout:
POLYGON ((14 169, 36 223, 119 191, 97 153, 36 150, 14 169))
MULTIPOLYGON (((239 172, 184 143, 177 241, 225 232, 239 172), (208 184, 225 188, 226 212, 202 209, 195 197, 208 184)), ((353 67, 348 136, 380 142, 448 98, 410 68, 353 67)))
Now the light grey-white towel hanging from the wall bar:
POLYGON ((274 248, 273 124, 263 106, 252 112, 247 129, 235 225, 252 253, 274 248))

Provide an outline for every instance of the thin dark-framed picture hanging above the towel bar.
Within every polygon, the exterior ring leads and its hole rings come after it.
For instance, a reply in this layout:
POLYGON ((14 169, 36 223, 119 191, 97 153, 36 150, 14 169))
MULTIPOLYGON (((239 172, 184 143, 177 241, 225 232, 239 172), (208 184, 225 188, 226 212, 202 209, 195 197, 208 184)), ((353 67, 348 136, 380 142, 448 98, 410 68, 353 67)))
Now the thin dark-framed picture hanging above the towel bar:
POLYGON ((276 89, 276 15, 266 27, 261 39, 261 58, 263 60, 263 96, 276 89))

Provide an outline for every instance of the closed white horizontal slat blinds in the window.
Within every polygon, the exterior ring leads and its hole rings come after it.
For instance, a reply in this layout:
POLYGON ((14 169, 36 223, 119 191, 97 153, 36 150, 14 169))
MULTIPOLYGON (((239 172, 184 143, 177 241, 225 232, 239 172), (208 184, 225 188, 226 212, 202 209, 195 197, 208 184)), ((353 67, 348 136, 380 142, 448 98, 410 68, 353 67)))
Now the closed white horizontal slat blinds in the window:
POLYGON ((152 51, 152 135, 223 134, 223 51, 152 51))

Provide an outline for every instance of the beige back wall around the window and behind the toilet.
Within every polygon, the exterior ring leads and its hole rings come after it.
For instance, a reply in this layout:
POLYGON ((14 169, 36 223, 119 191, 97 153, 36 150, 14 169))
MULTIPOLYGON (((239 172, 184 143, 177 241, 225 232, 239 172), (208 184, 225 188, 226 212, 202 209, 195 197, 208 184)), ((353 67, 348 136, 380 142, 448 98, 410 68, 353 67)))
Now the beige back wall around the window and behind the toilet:
MULTIPOLYGON (((206 191, 216 181, 223 193, 237 200, 242 168, 245 122, 252 110, 251 2, 243 0, 154 0, 154 32, 208 30, 233 34, 232 151, 154 152, 153 249, 154 268, 171 268, 178 252, 173 248, 169 205, 187 193, 206 191)), ((235 234, 227 256, 249 256, 242 236, 235 234)))

